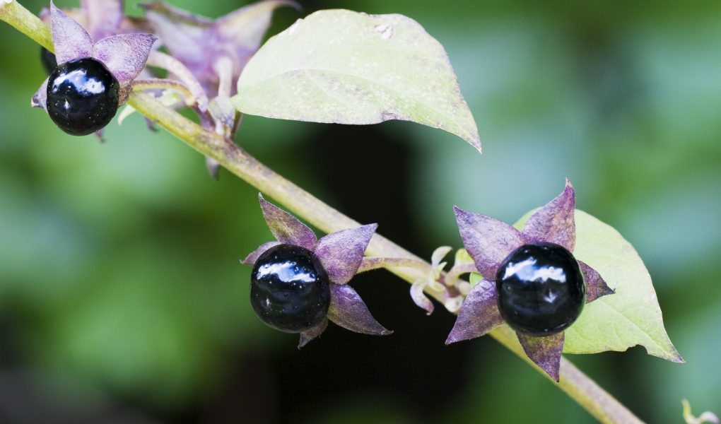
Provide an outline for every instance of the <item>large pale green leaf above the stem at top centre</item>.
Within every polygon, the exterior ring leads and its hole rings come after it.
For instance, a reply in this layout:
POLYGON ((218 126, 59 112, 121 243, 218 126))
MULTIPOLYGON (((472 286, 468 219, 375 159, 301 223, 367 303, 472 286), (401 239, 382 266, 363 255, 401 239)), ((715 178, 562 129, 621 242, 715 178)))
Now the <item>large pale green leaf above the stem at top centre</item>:
POLYGON ((238 80, 236 109, 320 123, 410 120, 481 150, 446 50, 400 14, 310 14, 265 43, 238 80))

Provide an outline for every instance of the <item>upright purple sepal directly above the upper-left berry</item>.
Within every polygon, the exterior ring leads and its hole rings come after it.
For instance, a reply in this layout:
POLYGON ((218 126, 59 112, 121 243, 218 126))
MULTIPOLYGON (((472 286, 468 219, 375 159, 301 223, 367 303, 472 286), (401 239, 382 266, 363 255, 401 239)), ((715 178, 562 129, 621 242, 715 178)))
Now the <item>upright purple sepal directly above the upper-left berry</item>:
POLYGON ((50 3, 50 29, 58 65, 92 56, 92 39, 86 30, 65 12, 50 3))

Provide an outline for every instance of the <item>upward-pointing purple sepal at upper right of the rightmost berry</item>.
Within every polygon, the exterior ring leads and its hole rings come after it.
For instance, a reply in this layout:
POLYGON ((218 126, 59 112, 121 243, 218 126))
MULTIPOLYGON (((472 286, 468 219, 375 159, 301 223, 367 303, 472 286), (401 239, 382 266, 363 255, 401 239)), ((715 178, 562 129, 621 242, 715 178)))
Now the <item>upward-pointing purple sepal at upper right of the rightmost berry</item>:
POLYGON ((539 208, 523 226, 523 238, 527 243, 548 242, 565 247, 573 252, 576 242, 576 227, 573 219, 576 195, 569 180, 562 193, 545 206, 539 208))

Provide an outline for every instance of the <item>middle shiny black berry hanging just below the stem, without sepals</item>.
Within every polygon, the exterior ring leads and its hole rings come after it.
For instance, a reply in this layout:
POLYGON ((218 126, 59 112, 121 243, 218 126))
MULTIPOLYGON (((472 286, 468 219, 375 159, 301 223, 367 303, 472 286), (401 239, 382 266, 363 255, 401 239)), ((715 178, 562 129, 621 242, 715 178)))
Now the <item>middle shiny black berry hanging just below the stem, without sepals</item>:
POLYGON ((328 313, 328 275, 310 250, 279 244, 253 265, 250 304, 258 317, 276 330, 309 330, 328 313))

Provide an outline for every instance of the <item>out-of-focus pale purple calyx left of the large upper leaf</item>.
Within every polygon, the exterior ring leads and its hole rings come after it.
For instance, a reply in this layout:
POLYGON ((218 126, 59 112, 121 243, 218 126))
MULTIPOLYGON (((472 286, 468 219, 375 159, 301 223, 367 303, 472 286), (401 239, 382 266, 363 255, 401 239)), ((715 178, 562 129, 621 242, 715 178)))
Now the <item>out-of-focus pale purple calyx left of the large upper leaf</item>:
MULTIPOLYGON (((209 19, 162 1, 141 6, 163 45, 193 72, 208 97, 218 94, 218 84, 224 84, 225 73, 228 80, 238 79, 245 64, 260 48, 276 8, 299 9, 294 1, 264 0, 218 19, 209 19)), ((229 95, 234 94, 234 85, 229 85, 229 95)))

